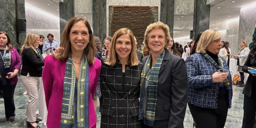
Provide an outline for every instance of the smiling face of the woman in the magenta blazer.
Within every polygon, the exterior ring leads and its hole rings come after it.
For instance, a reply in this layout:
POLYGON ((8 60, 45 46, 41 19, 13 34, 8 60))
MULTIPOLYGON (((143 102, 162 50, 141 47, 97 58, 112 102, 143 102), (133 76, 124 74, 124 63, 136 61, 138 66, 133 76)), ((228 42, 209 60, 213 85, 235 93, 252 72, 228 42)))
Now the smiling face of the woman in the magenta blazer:
POLYGON ((85 23, 81 21, 75 23, 70 29, 69 38, 72 52, 83 52, 90 41, 89 31, 85 23))

